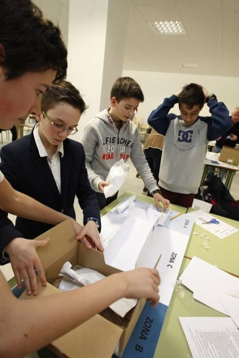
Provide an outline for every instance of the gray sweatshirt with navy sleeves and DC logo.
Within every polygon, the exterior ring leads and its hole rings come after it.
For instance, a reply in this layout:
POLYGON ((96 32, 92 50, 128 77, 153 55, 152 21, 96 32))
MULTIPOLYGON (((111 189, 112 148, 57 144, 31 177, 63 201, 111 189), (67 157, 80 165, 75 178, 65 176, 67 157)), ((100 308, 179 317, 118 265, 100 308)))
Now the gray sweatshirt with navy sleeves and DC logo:
POLYGON ((153 110, 148 124, 165 136, 159 172, 159 185, 169 191, 195 194, 201 182, 208 141, 214 140, 231 127, 229 112, 223 102, 208 101, 211 117, 199 116, 185 126, 181 116, 168 114, 178 103, 173 95, 153 110))

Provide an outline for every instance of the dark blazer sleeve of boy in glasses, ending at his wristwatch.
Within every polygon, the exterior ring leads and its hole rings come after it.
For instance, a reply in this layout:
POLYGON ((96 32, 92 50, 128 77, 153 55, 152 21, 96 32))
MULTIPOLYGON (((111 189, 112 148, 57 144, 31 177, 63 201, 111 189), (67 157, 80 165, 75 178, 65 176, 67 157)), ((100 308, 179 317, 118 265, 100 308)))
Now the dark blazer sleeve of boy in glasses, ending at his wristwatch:
POLYGON ((91 188, 91 184, 88 179, 88 173, 85 168, 85 154, 84 149, 81 146, 81 163, 78 177, 78 185, 76 196, 78 198, 79 205, 83 210, 83 222, 85 224, 88 217, 96 217, 100 222, 100 208, 98 206, 98 200, 95 191, 91 188))

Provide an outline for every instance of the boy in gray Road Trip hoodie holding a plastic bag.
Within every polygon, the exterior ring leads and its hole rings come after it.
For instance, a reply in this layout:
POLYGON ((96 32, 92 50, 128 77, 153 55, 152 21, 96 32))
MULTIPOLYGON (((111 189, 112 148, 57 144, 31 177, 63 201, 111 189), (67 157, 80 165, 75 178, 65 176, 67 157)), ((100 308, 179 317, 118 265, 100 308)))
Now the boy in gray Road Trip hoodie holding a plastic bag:
POLYGON ((124 161, 131 158, 144 186, 153 194, 157 207, 159 202, 164 209, 169 206, 169 201, 160 194, 143 154, 139 131, 131 121, 143 100, 139 84, 130 77, 120 77, 111 90, 111 107, 98 113, 84 128, 81 143, 85 151, 85 165, 100 209, 117 198, 118 192, 106 199, 104 186, 107 185, 105 180, 111 167, 121 158, 124 161))

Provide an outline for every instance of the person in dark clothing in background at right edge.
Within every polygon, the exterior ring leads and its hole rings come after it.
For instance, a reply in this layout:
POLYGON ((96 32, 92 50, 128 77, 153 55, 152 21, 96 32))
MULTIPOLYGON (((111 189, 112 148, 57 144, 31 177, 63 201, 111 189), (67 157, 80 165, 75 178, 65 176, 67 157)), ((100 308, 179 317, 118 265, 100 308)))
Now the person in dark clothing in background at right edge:
POLYGON ((215 153, 220 153, 224 145, 235 148, 236 144, 239 143, 239 107, 233 109, 230 119, 232 127, 216 139, 216 145, 212 149, 215 153))

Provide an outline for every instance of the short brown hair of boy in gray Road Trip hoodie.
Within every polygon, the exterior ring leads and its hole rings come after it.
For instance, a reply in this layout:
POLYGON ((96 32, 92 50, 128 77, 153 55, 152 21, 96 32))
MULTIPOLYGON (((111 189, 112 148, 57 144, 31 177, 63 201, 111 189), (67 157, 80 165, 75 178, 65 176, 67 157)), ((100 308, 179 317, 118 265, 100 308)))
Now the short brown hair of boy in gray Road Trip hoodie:
POLYGON ((119 77, 111 89, 111 98, 115 97, 118 102, 124 98, 137 98, 144 101, 144 95, 140 85, 131 77, 119 77))

